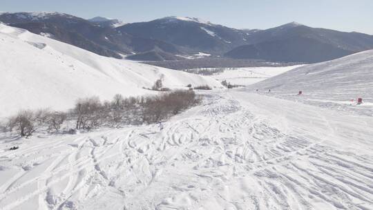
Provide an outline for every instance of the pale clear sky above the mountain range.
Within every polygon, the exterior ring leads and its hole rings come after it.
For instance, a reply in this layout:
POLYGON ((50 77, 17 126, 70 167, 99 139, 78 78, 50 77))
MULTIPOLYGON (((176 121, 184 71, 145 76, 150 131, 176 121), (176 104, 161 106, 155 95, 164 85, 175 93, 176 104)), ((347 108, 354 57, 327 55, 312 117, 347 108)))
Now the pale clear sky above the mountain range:
POLYGON ((232 28, 307 26, 373 35, 373 0, 0 0, 1 12, 57 11, 126 22, 198 17, 232 28))

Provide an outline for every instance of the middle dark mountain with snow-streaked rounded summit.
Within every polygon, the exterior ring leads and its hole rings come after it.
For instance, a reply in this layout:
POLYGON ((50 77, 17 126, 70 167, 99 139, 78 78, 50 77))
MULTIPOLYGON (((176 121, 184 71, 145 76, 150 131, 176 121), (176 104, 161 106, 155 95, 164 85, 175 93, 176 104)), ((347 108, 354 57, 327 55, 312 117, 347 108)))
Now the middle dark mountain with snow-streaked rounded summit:
POLYGON ((157 39, 179 46, 184 53, 222 54, 248 44, 247 32, 193 17, 164 17, 153 21, 128 23, 117 28, 135 37, 157 39))

